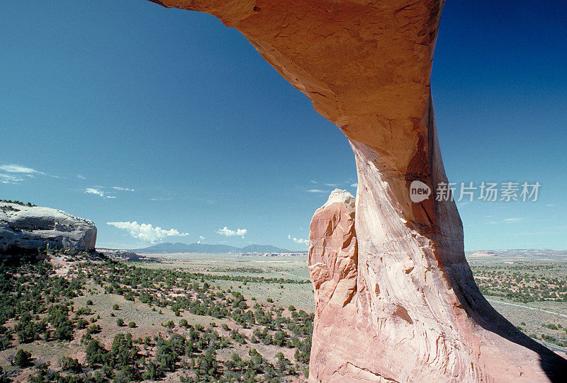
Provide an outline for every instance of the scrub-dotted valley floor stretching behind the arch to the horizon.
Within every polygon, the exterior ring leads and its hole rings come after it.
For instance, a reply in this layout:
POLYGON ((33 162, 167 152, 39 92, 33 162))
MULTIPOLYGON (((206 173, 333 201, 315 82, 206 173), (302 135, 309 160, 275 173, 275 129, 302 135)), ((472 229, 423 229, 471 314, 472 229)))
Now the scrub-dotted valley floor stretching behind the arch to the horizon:
MULTIPOLYGON (((92 262, 57 253, 47 272, 4 261, 2 299, 14 308, 1 318, 0 376, 306 380, 314 310, 307 256, 145 256, 92 262), (18 350, 30 352, 27 364, 18 350)), ((468 261, 495 309, 566 356, 567 253, 496 251, 468 261)))

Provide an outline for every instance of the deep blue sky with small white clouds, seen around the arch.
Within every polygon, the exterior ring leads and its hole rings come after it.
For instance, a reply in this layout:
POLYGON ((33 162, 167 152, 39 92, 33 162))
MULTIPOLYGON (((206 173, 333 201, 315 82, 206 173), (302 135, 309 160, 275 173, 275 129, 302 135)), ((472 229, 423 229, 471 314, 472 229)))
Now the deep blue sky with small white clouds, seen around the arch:
MULTIPOLYGON (((330 190, 355 193, 347 139, 212 16, 0 10, 0 198, 92 219, 100 247, 301 250, 330 190)), ((444 8, 432 91, 449 180, 541 184, 537 202, 459 202, 467 249, 567 248, 566 20, 561 1, 444 8)))

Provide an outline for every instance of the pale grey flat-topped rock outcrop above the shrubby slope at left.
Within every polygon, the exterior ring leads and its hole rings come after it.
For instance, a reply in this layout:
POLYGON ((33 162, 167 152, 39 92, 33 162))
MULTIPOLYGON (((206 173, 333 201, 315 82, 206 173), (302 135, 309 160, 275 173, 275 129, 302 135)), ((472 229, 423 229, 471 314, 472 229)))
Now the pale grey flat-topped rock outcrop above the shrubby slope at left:
POLYGON ((49 207, 0 202, 0 252, 65 248, 94 250, 96 227, 88 219, 49 207))

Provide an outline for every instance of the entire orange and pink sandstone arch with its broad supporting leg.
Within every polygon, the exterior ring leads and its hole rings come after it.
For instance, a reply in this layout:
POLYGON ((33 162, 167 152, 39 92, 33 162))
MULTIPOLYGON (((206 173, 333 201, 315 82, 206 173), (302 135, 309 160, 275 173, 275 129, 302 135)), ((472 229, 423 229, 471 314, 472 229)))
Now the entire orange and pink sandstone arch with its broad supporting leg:
MULTIPOLYGON (((237 28, 349 139, 357 198, 310 226, 310 382, 566 381, 566 360, 478 291, 446 183, 430 73, 441 0, 155 0, 237 28)), ((473 38, 471 36, 471 38, 473 38)))

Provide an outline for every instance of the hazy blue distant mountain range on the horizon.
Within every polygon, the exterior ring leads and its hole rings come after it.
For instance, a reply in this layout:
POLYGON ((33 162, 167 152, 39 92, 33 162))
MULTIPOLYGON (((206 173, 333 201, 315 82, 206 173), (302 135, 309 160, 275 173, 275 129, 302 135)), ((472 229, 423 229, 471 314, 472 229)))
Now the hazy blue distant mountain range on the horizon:
POLYGON ((209 245, 209 244, 172 244, 166 242, 146 248, 137 248, 135 253, 293 253, 286 248, 279 248, 271 245, 248 245, 245 247, 235 247, 228 245, 209 245))

